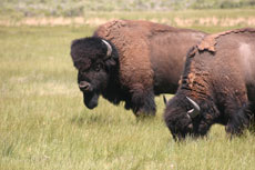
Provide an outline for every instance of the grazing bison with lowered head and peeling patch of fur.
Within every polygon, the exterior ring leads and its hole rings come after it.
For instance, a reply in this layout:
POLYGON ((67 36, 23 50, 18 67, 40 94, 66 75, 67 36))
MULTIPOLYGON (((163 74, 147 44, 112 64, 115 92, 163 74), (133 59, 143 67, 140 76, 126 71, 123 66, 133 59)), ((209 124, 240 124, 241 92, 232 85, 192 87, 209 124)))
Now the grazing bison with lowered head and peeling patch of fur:
POLYGON ((214 123, 231 136, 254 126, 255 29, 211 34, 190 50, 181 84, 166 103, 175 140, 205 136, 214 123))

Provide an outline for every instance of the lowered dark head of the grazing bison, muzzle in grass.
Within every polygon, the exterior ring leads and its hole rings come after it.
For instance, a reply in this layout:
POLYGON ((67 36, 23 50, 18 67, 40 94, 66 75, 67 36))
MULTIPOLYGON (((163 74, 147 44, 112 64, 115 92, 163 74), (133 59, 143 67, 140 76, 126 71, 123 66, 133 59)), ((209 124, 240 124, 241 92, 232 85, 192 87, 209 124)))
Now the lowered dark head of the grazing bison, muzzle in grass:
POLYGON ((186 96, 175 96, 166 106, 164 119, 173 138, 182 140, 186 136, 204 136, 208 130, 202 117, 201 107, 186 96))

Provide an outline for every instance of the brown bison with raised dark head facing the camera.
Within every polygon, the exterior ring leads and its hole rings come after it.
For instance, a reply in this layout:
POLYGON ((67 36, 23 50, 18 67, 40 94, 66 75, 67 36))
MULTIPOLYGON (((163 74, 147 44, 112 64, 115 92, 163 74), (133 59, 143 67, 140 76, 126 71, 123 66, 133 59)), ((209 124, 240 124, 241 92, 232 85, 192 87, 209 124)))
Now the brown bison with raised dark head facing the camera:
POLYGON ((135 116, 154 116, 154 96, 174 93, 187 50, 204 32, 149 21, 114 20, 100 26, 92 37, 76 39, 71 57, 78 83, 89 109, 99 96, 135 116))

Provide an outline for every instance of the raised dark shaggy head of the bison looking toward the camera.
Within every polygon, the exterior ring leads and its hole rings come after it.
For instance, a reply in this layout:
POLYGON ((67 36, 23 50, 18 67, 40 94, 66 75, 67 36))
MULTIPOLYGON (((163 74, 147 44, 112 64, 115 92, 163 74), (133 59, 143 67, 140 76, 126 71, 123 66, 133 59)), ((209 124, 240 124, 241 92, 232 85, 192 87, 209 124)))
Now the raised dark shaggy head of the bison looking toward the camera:
POLYGON ((108 87, 112 68, 116 64, 113 46, 101 38, 76 39, 71 57, 78 69, 78 84, 89 109, 98 106, 100 93, 108 87))

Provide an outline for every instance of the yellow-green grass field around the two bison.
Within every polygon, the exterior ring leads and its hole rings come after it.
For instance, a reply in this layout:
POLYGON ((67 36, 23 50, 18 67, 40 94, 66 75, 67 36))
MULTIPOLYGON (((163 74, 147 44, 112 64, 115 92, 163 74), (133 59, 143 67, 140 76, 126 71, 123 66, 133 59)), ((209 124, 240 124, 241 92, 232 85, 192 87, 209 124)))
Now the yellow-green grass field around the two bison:
MULTIPOLYGON (((190 18, 194 13, 203 16, 190 18)), ((245 24, 188 26, 207 32, 239 27, 245 24)), ((102 98, 88 110, 69 53, 71 40, 94 28, 0 27, 0 170, 254 170, 254 134, 230 140, 224 127, 214 126, 205 139, 176 143, 163 122, 161 97, 156 117, 144 121, 102 98)))

